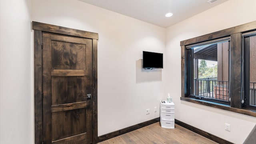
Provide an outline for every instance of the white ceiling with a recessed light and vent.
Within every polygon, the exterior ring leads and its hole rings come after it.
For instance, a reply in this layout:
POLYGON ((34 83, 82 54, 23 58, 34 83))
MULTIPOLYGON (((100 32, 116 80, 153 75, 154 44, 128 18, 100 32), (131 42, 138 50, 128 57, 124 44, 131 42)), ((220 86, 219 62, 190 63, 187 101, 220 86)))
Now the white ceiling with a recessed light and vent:
POLYGON ((163 28, 228 0, 80 0, 163 28), (171 12, 173 16, 165 17, 171 12))

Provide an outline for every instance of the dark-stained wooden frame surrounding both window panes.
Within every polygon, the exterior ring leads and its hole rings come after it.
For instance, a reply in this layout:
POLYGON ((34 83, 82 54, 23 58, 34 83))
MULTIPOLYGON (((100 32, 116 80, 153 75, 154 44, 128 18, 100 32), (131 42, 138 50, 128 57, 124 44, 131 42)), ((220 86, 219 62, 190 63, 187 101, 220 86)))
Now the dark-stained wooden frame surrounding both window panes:
POLYGON ((246 114, 256 117, 256 110, 252 108, 246 108, 242 104, 241 90, 242 90, 242 33, 256 30, 256 21, 234 26, 218 32, 213 32, 196 38, 191 38, 180 42, 181 46, 181 97, 180 100, 193 102, 196 104, 202 104, 211 106, 214 108, 220 108, 240 114, 246 114), (197 44, 201 42, 209 42, 218 38, 224 38, 230 36, 230 105, 217 102, 211 102, 206 100, 198 100, 190 96, 190 84, 191 81, 189 73, 189 52, 186 50, 186 46, 197 44))

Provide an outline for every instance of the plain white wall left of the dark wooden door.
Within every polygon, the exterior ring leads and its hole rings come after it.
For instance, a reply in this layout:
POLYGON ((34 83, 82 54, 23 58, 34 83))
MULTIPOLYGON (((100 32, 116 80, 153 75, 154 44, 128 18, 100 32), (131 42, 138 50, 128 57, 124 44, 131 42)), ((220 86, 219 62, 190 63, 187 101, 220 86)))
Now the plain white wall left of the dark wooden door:
POLYGON ((32 144, 31 0, 0 0, 0 143, 32 144))

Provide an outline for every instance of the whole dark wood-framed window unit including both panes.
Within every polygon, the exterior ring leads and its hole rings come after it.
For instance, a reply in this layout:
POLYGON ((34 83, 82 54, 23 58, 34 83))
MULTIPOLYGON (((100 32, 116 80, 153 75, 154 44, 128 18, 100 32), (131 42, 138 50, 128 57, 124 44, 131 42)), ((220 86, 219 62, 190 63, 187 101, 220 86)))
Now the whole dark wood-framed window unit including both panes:
POLYGON ((180 46, 181 100, 256 116, 256 21, 180 46))

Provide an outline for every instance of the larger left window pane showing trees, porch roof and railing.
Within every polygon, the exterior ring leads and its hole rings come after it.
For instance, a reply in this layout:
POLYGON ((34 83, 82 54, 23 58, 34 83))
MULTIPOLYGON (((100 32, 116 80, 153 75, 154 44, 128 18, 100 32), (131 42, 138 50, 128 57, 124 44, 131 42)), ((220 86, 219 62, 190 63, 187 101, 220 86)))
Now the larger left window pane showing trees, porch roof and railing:
POLYGON ((186 46, 190 53, 190 96, 229 104, 229 38, 186 46), (221 41, 221 42, 218 42, 221 41))

